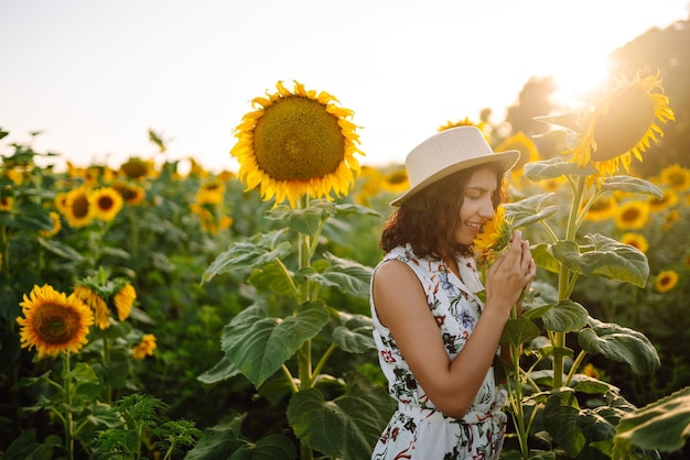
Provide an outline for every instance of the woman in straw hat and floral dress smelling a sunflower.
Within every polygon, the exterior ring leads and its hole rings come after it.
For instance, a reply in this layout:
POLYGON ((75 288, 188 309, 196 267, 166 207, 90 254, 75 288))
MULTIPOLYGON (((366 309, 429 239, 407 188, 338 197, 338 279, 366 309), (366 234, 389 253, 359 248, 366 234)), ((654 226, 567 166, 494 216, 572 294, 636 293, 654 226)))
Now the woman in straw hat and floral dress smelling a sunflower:
POLYGON ((381 236, 371 280, 379 363, 398 401, 371 459, 497 459, 505 393, 493 373, 513 306, 537 273, 516 232, 479 280, 473 241, 519 152, 494 153, 475 127, 441 131, 406 158, 410 188, 381 236), (486 291, 485 302, 477 294, 486 291))

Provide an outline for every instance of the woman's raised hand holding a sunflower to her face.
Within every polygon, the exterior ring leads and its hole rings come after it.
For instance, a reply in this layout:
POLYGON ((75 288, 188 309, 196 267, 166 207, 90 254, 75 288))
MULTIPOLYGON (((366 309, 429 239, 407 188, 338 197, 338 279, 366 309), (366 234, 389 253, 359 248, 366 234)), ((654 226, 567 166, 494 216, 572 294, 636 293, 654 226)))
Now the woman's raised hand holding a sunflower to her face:
MULTIPOLYGON (((529 242, 522 240, 521 232, 516 230, 508 252, 500 255, 487 272, 486 307, 498 308, 506 317, 509 316, 513 306, 521 302, 522 293, 530 289, 536 275, 537 264, 529 242)), ((518 307, 520 310, 521 305, 518 307)))

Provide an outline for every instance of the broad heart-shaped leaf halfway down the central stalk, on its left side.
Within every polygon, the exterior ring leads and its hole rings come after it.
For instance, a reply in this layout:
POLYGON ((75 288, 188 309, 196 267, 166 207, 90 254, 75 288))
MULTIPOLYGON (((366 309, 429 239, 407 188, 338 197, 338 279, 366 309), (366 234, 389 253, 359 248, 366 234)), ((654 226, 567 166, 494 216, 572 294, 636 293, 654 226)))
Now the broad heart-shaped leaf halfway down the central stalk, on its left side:
POLYGON ((268 316, 265 304, 240 311, 223 330, 220 348, 228 361, 259 387, 328 321, 323 300, 303 304, 294 316, 268 316))

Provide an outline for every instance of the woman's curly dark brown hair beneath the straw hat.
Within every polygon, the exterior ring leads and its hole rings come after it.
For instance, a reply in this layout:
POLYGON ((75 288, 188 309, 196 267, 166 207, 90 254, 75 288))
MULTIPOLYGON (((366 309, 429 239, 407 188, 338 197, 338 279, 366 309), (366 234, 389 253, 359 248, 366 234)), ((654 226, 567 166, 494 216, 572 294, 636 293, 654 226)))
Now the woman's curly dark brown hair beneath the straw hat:
MULTIPOLYGON (((379 247, 388 252, 409 243, 418 258, 448 260, 457 255, 474 255, 474 247, 457 244, 454 233, 460 221, 467 180, 476 169, 486 165, 459 171, 412 195, 396 209, 384 226, 379 247)), ((495 165, 498 187, 492 196, 494 208, 504 198, 504 173, 495 165)))

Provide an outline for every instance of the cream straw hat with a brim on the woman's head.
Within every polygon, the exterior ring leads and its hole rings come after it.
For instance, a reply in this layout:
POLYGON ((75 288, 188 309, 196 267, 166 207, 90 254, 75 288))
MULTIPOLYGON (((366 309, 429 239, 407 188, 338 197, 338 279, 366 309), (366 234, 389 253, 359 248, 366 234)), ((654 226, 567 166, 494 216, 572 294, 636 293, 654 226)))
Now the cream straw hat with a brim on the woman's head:
POLYGON ((520 152, 509 150, 494 153, 476 127, 457 127, 441 131, 416 146, 405 160, 410 188, 390 202, 402 205, 410 196, 461 169, 487 163, 498 163, 509 171, 520 152))

